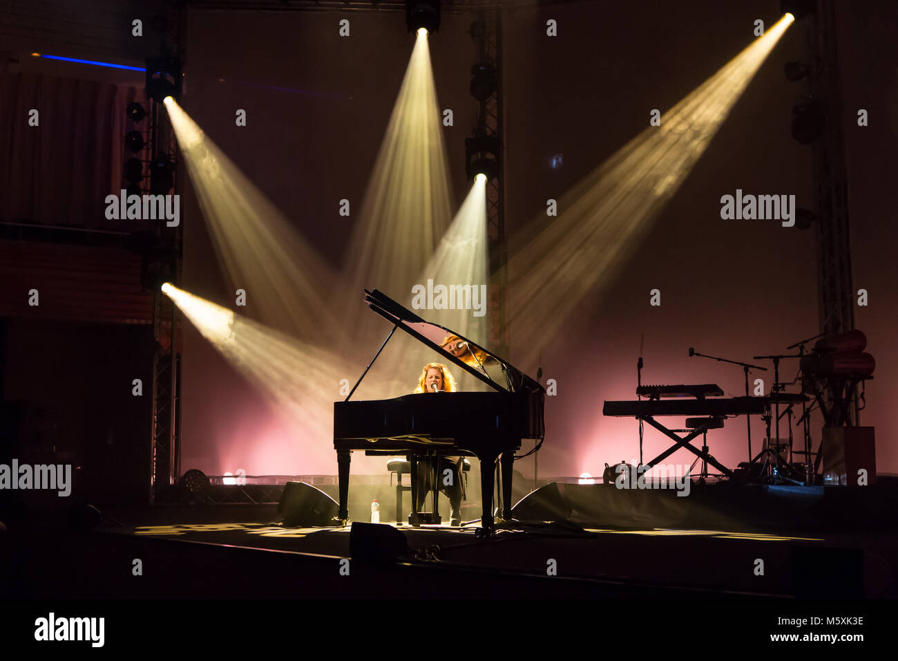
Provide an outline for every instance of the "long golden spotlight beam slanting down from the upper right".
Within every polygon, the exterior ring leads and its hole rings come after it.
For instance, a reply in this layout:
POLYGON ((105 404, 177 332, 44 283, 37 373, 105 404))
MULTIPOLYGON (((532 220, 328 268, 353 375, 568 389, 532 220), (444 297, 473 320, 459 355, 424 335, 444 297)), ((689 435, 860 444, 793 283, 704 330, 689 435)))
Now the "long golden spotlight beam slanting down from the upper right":
POLYGON ((526 364, 587 296, 607 286, 708 147, 788 25, 779 22, 621 147, 559 201, 549 227, 533 220, 508 264, 509 324, 526 364))

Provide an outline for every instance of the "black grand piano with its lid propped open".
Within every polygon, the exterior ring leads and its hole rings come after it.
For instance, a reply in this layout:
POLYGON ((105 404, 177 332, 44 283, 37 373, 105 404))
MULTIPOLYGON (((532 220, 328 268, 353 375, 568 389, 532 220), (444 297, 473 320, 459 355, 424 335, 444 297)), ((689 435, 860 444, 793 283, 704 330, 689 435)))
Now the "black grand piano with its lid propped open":
MULTIPOLYGON (((368 308, 392 325, 380 349, 344 401, 334 402, 334 449, 339 469, 339 514, 348 520, 349 464, 352 451, 406 454, 411 464, 413 509, 417 500, 417 458, 474 456, 480 460, 483 514, 481 529, 495 528, 494 474, 501 467, 502 517, 511 519, 515 451, 522 439, 542 439, 545 389, 513 365, 452 330, 431 324, 383 292, 365 290, 368 308), (392 399, 350 401, 396 329, 414 337, 444 362, 489 387, 485 392, 437 392, 392 399), (449 344, 446 340, 452 338, 449 344), (501 457, 501 459, 499 459, 501 457)), ((417 514, 417 513, 413 513, 417 514)), ((411 523, 417 523, 412 521, 411 523)))

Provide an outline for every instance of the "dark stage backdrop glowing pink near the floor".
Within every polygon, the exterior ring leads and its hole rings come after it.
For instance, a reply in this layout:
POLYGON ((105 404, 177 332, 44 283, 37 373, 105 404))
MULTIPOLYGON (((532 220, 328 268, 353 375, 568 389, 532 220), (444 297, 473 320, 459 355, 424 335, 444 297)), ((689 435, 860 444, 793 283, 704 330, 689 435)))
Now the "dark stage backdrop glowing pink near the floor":
MULTIPOLYGON (((735 56, 753 40, 757 18, 772 25, 779 2, 728 3, 726 12, 718 2, 704 0, 572 3, 507 13, 509 230, 544 217, 546 200, 559 199, 645 128, 649 110, 665 111, 735 56), (559 22, 554 39, 545 36, 549 18, 559 22), (548 159, 558 153, 564 165, 550 170, 548 159)), ((470 22, 469 14, 444 13, 440 32, 430 40, 440 106, 455 114, 445 138, 456 204, 466 192, 463 139, 475 112, 467 90, 475 61, 465 34, 470 22)), ((890 394, 898 385, 893 346, 898 288, 892 252, 898 231, 891 182, 898 174, 898 54, 889 44, 898 8, 885 0, 841 5, 838 24, 854 284, 870 292, 869 307, 858 308, 856 318, 877 361, 863 422, 876 425, 879 469, 894 471, 898 451, 890 394), (856 125, 858 108, 869 112, 869 127, 856 125)), ((739 395, 740 369, 690 359, 687 348, 750 360, 753 354, 785 353, 788 344, 817 332, 813 231, 719 218, 720 196, 737 188, 792 193, 799 206, 812 206, 811 152, 789 136, 800 86, 782 74, 782 64, 800 54, 799 37, 796 26, 787 31, 620 275, 604 283, 602 296, 585 300, 567 332, 542 348, 545 376, 558 382, 558 395, 547 400, 542 476, 596 474, 605 461, 638 458, 637 424, 604 418, 602 403, 634 397, 643 334, 644 382, 717 382, 727 395, 739 395), (648 306, 653 288, 662 291, 661 308, 648 306)), ((357 219, 341 219, 338 201, 348 198, 355 209, 360 206, 412 44, 396 13, 194 11, 184 105, 337 265, 357 219), (338 35, 341 18, 351 22, 347 39, 338 35), (238 108, 247 110, 245 128, 234 126, 238 108)), ((185 288, 231 306, 195 206, 185 214, 184 227, 185 288)), ((359 314, 367 314, 361 304, 359 314)), ((511 337, 514 360, 514 328, 511 337)), ((533 373, 537 365, 521 367, 533 373)), ((784 375, 791 378, 796 368, 788 363, 784 375)), ((334 472, 328 440, 294 438, 192 328, 183 375, 184 469, 334 472)), ((764 378, 766 390, 771 374, 764 378)), ((815 416, 815 440, 821 424, 815 416)), ((757 449, 757 418, 753 432, 757 449)), ((743 418, 709 438, 724 463, 745 459, 743 418)), ((666 445, 648 430, 646 458, 666 445)), ((691 459, 681 451, 669 461, 691 459)), ((520 469, 526 474, 532 465, 520 469)))

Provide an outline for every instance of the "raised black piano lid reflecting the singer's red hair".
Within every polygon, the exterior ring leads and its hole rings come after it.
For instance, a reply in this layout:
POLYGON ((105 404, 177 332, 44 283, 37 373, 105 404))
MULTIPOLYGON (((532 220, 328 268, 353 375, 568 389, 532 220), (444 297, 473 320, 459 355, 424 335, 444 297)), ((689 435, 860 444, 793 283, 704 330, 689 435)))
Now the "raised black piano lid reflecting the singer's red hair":
POLYGON ((471 342, 453 330, 418 317, 382 291, 365 290, 365 303, 391 324, 401 328, 421 344, 429 346, 492 389, 500 392, 545 392, 537 381, 514 365, 494 353, 489 353, 479 344, 471 342))

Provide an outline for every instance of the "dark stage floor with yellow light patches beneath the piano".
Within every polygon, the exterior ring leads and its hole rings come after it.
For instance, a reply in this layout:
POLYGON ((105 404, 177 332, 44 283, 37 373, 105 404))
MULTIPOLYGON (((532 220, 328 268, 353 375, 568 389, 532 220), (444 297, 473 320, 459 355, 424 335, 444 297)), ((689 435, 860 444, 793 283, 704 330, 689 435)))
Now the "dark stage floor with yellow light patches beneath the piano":
MULTIPOLYGON (((31 525, 13 596, 46 598, 894 598, 898 534, 384 527, 409 552, 352 558, 351 527, 286 528, 274 505, 106 511, 92 531, 31 525), (142 576, 132 576, 139 558, 142 576), (346 561, 348 558, 348 562, 346 561), (348 568, 348 576, 341 570, 348 568)), ((9 567, 9 565, 8 565, 9 567)))

